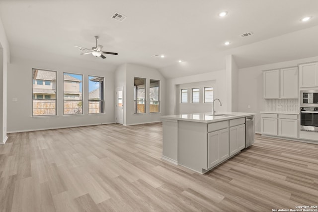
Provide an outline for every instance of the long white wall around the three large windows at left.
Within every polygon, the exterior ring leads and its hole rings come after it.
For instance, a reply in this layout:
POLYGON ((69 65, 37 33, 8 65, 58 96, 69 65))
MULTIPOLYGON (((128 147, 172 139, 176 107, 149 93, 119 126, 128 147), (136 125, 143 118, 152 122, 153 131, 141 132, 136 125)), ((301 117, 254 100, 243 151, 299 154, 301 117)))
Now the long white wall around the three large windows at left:
POLYGON ((76 65, 11 58, 7 77, 8 132, 114 123, 114 72, 71 64, 76 65), (32 117, 32 68, 57 71, 57 116, 32 117), (83 74, 83 115, 63 115, 63 72, 83 74), (105 114, 88 115, 88 75, 105 77, 105 114))

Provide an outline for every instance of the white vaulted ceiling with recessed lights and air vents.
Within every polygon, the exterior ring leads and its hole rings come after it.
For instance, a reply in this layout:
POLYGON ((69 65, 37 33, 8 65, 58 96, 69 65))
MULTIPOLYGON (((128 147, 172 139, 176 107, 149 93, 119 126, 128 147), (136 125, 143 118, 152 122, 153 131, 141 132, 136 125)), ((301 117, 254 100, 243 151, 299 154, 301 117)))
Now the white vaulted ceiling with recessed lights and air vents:
POLYGON ((135 63, 167 78, 224 69, 229 54, 239 68, 318 56, 318 0, 0 0, 0 18, 12 56, 135 63), (119 55, 79 55, 95 35, 119 55))

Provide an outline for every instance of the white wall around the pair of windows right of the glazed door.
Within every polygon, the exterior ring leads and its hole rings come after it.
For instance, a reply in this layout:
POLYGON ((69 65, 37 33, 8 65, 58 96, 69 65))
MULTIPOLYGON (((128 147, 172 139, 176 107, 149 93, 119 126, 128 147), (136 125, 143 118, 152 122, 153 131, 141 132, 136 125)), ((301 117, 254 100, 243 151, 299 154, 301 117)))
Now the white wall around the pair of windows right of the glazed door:
MULTIPOLYGON (((117 80, 116 80, 117 81, 117 80)), ((124 116, 126 115, 126 122, 124 125, 134 125, 150 122, 161 121, 160 116, 165 115, 166 104, 166 82, 165 78, 157 69, 144 67, 136 64, 126 65, 126 89, 124 89, 124 98, 126 100, 126 107, 124 106, 124 116), (146 90, 149 91, 150 79, 160 80, 160 112, 149 113, 150 97, 149 92, 146 92, 146 113, 134 113, 134 77, 146 78, 146 90)))

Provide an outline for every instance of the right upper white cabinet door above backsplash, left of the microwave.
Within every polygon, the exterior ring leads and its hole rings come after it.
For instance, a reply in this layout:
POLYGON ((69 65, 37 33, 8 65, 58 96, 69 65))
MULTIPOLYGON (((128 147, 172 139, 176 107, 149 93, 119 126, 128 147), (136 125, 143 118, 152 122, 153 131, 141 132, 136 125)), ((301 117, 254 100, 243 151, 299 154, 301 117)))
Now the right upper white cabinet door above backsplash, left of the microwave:
POLYGON ((298 68, 280 70, 280 98, 298 98, 298 68))

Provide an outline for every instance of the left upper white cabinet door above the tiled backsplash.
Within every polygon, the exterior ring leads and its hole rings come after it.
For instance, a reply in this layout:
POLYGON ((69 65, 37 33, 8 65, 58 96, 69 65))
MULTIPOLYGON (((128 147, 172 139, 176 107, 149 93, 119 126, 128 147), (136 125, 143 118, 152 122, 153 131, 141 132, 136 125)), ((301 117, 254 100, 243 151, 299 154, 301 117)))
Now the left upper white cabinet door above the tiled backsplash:
POLYGON ((279 98, 279 70, 263 72, 264 99, 279 98))

